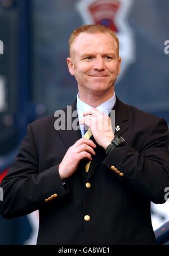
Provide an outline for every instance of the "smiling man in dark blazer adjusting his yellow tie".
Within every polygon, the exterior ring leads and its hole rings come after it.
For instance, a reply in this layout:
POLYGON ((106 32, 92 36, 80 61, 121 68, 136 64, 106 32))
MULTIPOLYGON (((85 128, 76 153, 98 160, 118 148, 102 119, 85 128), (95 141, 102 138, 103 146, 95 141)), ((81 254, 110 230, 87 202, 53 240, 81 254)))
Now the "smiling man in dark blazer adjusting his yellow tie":
POLYGON ((89 129, 56 129, 54 116, 29 124, 2 182, 1 213, 38 209, 38 244, 155 244, 150 201, 164 203, 169 186, 167 124, 115 96, 121 58, 110 29, 84 25, 69 44, 79 92, 72 112, 89 129), (115 110, 115 124, 105 110, 115 110))

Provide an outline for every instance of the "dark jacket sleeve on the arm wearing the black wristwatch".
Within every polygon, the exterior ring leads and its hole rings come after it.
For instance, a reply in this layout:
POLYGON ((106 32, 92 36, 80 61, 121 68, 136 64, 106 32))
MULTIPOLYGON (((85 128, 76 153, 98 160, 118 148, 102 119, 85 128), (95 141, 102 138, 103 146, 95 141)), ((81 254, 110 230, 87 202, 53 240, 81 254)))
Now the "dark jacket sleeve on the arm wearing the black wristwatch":
POLYGON ((149 129, 141 149, 137 151, 128 143, 115 147, 104 159, 114 175, 126 181, 132 189, 154 203, 164 203, 165 188, 169 187, 169 153, 167 150, 168 128, 163 119, 156 119, 149 129), (114 166, 111 168, 111 166, 114 166))

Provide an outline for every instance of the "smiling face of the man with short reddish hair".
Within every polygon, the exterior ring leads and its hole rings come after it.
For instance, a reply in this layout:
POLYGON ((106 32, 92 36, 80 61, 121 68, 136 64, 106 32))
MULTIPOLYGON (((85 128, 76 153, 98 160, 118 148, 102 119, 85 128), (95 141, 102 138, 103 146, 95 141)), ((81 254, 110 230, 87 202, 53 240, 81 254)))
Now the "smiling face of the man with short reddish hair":
POLYGON ((117 42, 109 33, 79 34, 67 62, 71 75, 77 80, 79 95, 114 91, 121 58, 118 57, 117 42))

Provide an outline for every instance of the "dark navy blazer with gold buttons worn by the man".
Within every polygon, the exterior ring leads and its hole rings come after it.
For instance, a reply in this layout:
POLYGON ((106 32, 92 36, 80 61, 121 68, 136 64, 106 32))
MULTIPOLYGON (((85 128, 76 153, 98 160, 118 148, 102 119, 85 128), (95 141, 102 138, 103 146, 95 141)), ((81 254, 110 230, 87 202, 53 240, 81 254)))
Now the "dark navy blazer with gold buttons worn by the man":
MULTIPOLYGON (((75 107, 74 102, 72 111, 75 107)), ((19 154, 2 181, 0 206, 4 218, 38 209, 38 244, 155 244, 150 201, 164 203, 164 188, 169 186, 167 124, 118 98, 113 109, 120 127, 116 134, 127 144, 109 155, 97 145, 88 173, 82 160, 64 184, 58 166, 81 132, 56 131, 54 116, 28 125, 19 154), (45 200, 54 194, 58 196, 45 200)))

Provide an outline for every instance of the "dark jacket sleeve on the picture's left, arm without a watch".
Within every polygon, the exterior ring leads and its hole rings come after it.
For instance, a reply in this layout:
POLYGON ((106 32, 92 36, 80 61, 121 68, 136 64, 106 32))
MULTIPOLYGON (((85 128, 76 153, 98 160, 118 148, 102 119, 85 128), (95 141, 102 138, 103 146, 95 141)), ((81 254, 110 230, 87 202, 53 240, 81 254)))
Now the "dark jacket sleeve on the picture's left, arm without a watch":
POLYGON ((59 164, 56 164, 43 172, 38 172, 38 155, 32 127, 29 124, 19 154, 1 183, 1 215, 7 219, 26 215, 65 196, 69 192, 69 187, 63 185, 58 166, 59 164), (54 194, 54 198, 45 201, 54 194))

